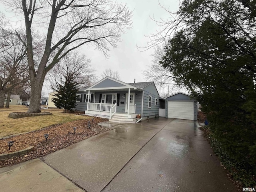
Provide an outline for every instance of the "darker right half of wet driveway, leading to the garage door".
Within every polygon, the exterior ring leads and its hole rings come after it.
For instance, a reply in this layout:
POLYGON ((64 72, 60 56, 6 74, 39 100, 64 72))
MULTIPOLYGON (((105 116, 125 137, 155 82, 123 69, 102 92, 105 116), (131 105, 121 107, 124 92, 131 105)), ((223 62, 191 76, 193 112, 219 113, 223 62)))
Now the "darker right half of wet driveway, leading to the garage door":
POLYGON ((236 192, 210 145, 190 120, 175 119, 156 134, 104 192, 236 192))

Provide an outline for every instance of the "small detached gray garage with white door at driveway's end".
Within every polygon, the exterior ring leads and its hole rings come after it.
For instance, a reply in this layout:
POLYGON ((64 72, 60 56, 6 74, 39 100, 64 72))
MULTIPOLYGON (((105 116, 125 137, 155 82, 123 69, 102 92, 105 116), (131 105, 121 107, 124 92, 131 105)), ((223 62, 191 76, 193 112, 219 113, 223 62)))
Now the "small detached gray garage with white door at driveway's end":
POLYGON ((197 120, 197 102, 188 94, 178 92, 165 98, 166 117, 197 120))

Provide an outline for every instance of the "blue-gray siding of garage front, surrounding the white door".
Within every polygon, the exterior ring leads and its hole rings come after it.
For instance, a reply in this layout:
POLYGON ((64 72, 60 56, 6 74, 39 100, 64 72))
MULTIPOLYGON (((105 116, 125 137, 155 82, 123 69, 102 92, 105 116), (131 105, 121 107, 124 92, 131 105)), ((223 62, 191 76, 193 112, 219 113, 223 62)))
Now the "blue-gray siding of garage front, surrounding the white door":
POLYGON ((190 96, 178 93, 176 95, 167 97, 165 99, 165 117, 168 118, 168 101, 193 101, 194 102, 194 120, 197 120, 197 102, 195 99, 190 98, 190 96))

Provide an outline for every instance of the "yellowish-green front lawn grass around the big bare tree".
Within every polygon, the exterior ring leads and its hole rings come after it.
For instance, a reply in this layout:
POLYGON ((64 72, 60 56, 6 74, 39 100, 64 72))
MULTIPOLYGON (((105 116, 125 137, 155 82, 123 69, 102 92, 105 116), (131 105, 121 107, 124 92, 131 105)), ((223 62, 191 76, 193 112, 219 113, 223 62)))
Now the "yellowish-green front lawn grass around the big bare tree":
POLYGON ((12 134, 29 132, 42 129, 44 127, 62 124, 79 119, 86 119, 88 116, 74 116, 72 113, 64 113, 63 110, 54 108, 41 110, 42 112, 51 112, 52 115, 34 116, 13 119, 9 118, 10 112, 26 112, 26 106, 10 106, 10 108, 0 108, 0 138, 12 134))

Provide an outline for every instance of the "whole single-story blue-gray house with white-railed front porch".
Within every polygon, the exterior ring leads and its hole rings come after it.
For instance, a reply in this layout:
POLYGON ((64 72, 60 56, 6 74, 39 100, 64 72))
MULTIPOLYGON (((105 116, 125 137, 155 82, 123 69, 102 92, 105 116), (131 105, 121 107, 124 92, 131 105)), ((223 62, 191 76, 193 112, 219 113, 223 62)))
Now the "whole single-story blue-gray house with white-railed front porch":
POLYGON ((164 108, 154 82, 124 83, 105 77, 96 84, 79 89, 76 110, 88 116, 108 118, 111 122, 135 123, 158 116, 164 108), (141 118, 136 118, 140 114, 141 118))

